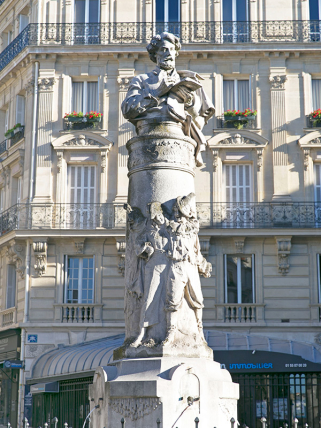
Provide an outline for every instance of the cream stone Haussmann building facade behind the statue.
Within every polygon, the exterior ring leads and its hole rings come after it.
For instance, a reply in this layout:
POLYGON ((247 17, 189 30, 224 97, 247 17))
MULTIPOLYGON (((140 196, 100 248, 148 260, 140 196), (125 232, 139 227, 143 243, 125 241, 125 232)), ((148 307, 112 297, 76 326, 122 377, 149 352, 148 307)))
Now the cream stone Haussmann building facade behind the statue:
POLYGON ((123 341, 135 131, 120 105, 163 30, 216 107, 195 171, 213 266, 203 322, 240 384, 239 422, 319 426, 320 13, 318 0, 0 0, 0 427, 82 427, 94 371, 123 341))

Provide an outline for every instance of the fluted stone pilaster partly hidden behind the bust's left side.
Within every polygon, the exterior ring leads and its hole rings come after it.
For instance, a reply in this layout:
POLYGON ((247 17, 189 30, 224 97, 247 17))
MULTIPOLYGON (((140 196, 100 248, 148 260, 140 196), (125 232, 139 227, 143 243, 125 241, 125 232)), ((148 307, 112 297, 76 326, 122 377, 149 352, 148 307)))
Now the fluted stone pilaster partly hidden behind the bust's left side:
POLYGON ((129 83, 133 76, 118 76, 117 83, 119 85, 119 132, 118 132, 118 168, 117 168, 117 195, 115 202, 126 202, 128 191, 127 178, 127 149, 126 143, 133 136, 134 127, 129 123, 121 112, 121 104, 126 97, 129 83))

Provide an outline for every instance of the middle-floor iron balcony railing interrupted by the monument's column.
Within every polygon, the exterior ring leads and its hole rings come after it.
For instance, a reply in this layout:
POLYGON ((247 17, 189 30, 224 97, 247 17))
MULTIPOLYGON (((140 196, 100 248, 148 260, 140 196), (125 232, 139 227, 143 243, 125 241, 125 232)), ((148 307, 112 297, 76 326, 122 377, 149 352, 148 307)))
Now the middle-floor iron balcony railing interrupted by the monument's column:
MULTIPOLYGON (((321 228, 321 202, 197 203, 201 228, 321 228)), ((12 230, 125 228, 122 204, 18 204, 0 214, 12 230)))

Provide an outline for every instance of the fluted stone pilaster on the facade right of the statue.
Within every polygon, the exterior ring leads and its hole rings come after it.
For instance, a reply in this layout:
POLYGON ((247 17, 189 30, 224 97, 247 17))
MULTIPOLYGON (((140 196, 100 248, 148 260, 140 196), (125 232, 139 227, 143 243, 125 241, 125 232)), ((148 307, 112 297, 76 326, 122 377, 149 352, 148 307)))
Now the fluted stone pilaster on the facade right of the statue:
POLYGON ((288 189, 288 151, 286 138, 285 82, 286 75, 271 75, 271 129, 273 145, 273 179, 276 201, 290 201, 288 189))

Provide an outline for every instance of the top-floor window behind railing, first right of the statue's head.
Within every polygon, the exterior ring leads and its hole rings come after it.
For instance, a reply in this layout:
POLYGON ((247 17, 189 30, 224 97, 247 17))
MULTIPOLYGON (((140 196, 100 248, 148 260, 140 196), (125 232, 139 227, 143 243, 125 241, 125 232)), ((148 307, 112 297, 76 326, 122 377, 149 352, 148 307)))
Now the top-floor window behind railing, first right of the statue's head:
POLYGON ((248 41, 248 0, 223 0, 222 21, 224 42, 248 41))

